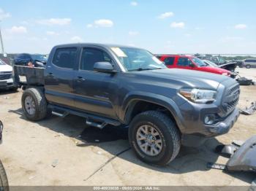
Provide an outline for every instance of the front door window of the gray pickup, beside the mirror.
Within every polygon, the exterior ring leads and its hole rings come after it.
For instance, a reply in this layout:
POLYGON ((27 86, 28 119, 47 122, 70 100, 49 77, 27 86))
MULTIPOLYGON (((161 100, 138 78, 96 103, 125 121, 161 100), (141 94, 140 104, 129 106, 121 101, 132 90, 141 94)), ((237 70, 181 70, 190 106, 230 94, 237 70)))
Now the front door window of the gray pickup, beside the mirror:
POLYGON ((111 58, 106 52, 102 50, 98 50, 94 48, 83 49, 81 63, 80 63, 81 70, 93 71, 94 63, 97 63, 97 62, 111 63, 111 58))

